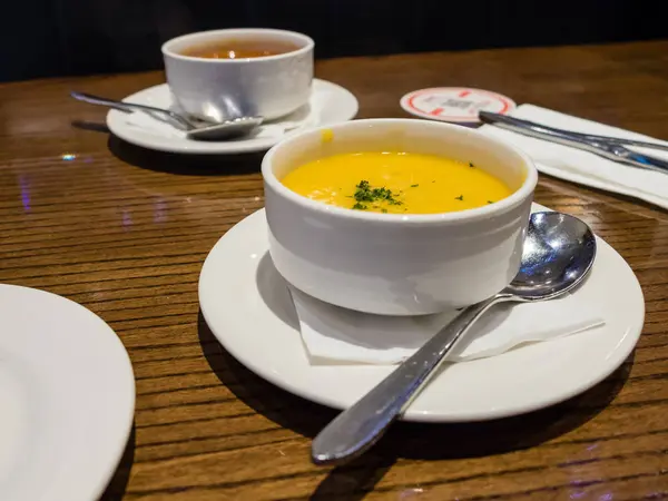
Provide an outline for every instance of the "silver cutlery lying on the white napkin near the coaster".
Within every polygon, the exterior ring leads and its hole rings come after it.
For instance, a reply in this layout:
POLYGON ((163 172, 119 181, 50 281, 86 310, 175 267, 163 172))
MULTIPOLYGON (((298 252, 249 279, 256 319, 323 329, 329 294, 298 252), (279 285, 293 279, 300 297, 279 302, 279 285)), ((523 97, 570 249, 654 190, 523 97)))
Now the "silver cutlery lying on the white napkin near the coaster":
POLYGON ((620 164, 668 174, 668 161, 633 151, 625 146, 640 146, 645 148, 668 150, 668 146, 665 145, 572 132, 570 130, 557 129, 554 127, 509 117, 508 115, 499 115, 491 111, 480 111, 480 120, 502 129, 522 134, 524 136, 582 149, 620 164))

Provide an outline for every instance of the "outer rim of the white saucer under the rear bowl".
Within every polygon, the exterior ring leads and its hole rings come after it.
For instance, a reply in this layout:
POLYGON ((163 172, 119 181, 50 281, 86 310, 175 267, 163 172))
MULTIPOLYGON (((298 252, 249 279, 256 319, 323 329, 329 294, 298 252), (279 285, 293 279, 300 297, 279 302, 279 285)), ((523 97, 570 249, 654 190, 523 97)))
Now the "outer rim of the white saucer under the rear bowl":
MULTIPOLYGON (((333 107, 337 116, 334 119, 324 119, 313 125, 313 127, 321 127, 333 125, 342 121, 348 121, 355 118, 360 110, 360 104, 357 98, 345 87, 334 84, 328 80, 320 78, 313 79, 313 91, 316 90, 331 90, 336 92, 337 100, 346 102, 345 107, 333 107)), ((158 84, 156 86, 147 87, 135 94, 125 97, 122 100, 127 102, 146 104, 148 96, 153 96, 157 92, 169 91, 167 84, 158 84)), ((153 134, 137 134, 136 129, 128 128, 124 121, 125 112, 110 109, 107 112, 107 127, 109 130, 120 139, 130 143, 143 148, 154 149, 157 151, 166 153, 178 153, 178 154, 196 154, 196 155, 235 155, 245 154, 253 151, 264 151, 269 149, 272 146, 283 140, 285 137, 297 131, 303 131, 306 128, 299 128, 298 130, 287 132, 283 137, 267 137, 262 139, 252 139, 248 141, 195 141, 190 139, 175 139, 175 138, 163 138, 153 134)), ((310 127, 311 128, 311 127, 310 127)))

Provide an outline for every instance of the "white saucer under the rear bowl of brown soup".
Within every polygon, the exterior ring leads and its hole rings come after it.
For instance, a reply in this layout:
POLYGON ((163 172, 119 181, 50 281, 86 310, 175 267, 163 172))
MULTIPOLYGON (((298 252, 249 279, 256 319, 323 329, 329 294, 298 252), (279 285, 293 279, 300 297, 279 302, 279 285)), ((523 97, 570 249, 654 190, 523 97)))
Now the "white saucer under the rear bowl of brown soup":
MULTIPOLYGON (((124 101, 157 108, 174 106, 167 84, 140 90, 126 97, 124 101)), ((145 148, 184 154, 227 155, 268 149, 294 131, 351 120, 357 114, 357 99, 348 90, 315 78, 307 105, 287 117, 264 124, 253 135, 238 139, 225 141, 186 139, 181 131, 146 114, 126 114, 116 109, 107 114, 107 126, 121 139, 145 148)))

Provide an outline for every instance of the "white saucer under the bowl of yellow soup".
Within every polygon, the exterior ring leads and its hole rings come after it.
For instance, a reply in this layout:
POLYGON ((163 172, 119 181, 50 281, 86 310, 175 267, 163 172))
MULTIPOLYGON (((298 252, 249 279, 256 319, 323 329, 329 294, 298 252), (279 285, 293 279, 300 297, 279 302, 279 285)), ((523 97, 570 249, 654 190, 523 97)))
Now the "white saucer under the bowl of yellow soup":
MULTIPOLYGON (((546 210, 537 204, 533 209, 546 210)), ((640 336, 645 303, 628 264, 602 239, 597 243, 596 263, 573 293, 579 298, 573 307, 595 305, 605 325, 449 365, 403 419, 455 422, 521 414, 574 396, 619 367, 640 336)), ((287 284, 268 254, 264 210, 237 224, 210 250, 199 276, 199 304, 212 332, 235 358, 277 386, 324 405, 348 407, 394 369, 310 363, 287 284)))

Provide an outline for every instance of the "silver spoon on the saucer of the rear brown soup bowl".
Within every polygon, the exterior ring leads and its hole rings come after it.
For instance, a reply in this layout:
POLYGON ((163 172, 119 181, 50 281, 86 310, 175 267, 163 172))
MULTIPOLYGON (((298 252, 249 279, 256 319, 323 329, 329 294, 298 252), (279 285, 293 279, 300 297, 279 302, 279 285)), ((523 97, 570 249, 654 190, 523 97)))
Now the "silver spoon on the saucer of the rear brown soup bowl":
POLYGON ((135 102, 117 101, 99 96, 92 96, 90 94, 71 91, 70 96, 80 101, 89 102, 90 105, 108 106, 121 111, 144 111, 150 116, 163 116, 170 121, 171 125, 176 124, 177 128, 185 130, 188 139, 214 140, 245 136, 259 127, 264 120, 263 117, 239 117, 233 120, 214 124, 187 118, 169 109, 137 105, 135 102))

